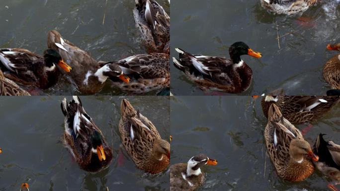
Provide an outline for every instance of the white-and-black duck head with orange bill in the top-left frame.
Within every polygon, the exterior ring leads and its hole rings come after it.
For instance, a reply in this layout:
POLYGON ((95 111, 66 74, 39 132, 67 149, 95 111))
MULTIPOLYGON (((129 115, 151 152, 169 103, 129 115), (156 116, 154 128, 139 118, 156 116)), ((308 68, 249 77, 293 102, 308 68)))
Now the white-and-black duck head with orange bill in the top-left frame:
POLYGON ((122 69, 116 64, 106 64, 99 68, 94 76, 98 77, 99 82, 104 83, 108 78, 113 80, 119 79, 125 83, 130 82, 130 78, 127 77, 122 69))

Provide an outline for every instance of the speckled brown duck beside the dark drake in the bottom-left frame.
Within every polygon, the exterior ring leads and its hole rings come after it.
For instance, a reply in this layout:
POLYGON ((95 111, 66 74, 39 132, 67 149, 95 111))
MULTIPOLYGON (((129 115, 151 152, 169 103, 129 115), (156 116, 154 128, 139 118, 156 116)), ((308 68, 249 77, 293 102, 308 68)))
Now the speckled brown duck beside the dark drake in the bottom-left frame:
POLYGON ((155 125, 123 99, 119 133, 122 144, 137 168, 150 174, 165 171, 170 164, 170 143, 161 138, 155 125))

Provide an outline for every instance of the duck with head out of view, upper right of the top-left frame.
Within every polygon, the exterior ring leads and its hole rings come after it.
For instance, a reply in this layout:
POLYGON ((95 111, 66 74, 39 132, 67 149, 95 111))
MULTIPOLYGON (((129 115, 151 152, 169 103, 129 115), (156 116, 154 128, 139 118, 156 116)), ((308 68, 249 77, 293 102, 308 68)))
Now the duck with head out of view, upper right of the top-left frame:
MULTIPOLYGON (((169 2, 170 3, 170 2, 169 2)), ((136 26, 149 53, 170 54, 170 17, 156 0, 135 0, 136 26)))

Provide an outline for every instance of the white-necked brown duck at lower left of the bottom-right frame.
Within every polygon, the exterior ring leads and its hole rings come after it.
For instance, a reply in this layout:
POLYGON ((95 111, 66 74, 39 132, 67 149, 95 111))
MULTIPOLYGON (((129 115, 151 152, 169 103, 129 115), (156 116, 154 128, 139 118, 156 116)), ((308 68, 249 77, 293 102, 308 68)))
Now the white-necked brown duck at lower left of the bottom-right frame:
POLYGON ((188 161, 170 166, 170 191, 194 191, 205 181, 204 172, 200 167, 217 165, 217 161, 209 159, 205 154, 199 154, 188 161))

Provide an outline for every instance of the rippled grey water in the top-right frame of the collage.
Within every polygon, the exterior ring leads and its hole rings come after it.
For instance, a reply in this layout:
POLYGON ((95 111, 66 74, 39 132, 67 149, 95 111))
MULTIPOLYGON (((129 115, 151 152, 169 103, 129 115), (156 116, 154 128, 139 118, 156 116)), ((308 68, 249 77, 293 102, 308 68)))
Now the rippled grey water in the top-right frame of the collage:
MULTIPOLYGON (((174 48, 192 54, 229 58, 229 46, 244 41, 263 57, 242 59, 253 70, 253 82, 241 95, 261 95, 284 88, 288 95, 325 95, 330 88, 323 65, 337 53, 326 50, 340 39, 338 0, 322 0, 302 15, 275 15, 259 0, 171 1, 171 57, 174 48), (280 49, 277 42, 278 28, 280 49)), ((339 54, 339 53, 338 53, 339 54)), ((171 64, 174 95, 204 95, 171 64)), ((224 95, 224 94, 219 94, 224 95)))

